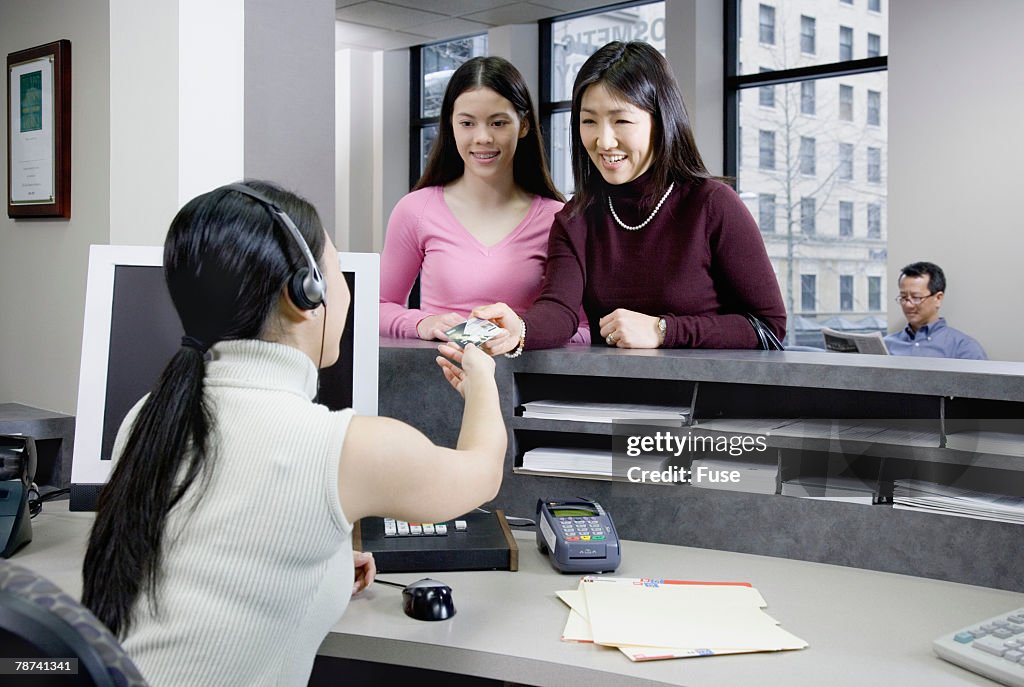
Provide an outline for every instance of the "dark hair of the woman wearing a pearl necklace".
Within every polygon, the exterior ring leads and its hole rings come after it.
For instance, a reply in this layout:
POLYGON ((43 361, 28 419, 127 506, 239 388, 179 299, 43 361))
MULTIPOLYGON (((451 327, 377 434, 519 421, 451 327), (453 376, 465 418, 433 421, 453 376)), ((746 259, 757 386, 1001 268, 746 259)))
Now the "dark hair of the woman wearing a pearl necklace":
POLYGON ((693 140, 683 96, 679 94, 668 60, 647 43, 615 41, 598 49, 584 62, 572 85, 572 177, 575 181, 572 214, 584 212, 595 201, 601 201, 604 192, 601 173, 591 162, 580 136, 583 95, 594 84, 603 85, 612 95, 643 110, 653 120, 650 195, 644 199, 648 209, 653 209, 673 181, 711 178, 693 140))

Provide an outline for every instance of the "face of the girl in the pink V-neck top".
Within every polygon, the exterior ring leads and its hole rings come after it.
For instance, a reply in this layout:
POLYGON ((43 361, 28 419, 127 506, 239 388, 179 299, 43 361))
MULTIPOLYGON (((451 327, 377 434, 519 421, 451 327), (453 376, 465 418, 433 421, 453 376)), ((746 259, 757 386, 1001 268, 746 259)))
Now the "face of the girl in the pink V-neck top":
POLYGON ((512 174, 515 148, 527 125, 508 98, 481 87, 455 99, 452 129, 465 173, 493 177, 512 174))

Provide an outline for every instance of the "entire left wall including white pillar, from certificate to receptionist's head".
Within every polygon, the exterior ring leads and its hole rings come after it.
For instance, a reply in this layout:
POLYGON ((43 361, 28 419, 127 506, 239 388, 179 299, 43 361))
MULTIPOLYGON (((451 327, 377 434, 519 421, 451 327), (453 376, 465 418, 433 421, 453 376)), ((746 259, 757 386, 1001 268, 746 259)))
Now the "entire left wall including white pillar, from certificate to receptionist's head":
POLYGON ((182 201, 256 176, 333 228, 334 3, 208 4, 0 3, 0 49, 68 38, 73 75, 72 219, 0 217, 0 402, 75 414, 90 244, 160 245, 182 201))

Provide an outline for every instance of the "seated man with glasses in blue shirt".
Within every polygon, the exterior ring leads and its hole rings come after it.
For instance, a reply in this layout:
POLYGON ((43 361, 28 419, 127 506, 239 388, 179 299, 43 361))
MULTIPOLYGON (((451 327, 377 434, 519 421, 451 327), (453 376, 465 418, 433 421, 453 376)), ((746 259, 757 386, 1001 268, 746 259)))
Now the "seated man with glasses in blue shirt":
POLYGON ((913 262, 900 270, 896 302, 903 308, 906 327, 886 337, 890 353, 988 359, 981 344, 939 316, 945 290, 946 275, 932 262, 913 262))

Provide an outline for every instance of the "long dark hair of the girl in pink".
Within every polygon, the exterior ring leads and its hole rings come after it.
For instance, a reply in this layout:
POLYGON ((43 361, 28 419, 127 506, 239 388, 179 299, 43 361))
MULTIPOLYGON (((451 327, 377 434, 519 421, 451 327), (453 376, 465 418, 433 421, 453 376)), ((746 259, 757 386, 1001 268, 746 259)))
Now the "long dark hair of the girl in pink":
POLYGON ((476 88, 489 88, 511 102, 519 119, 529 126, 526 135, 516 144, 515 159, 512 161, 512 174, 516 184, 526 192, 564 201, 548 172, 548 160, 541 141, 541 126, 526 81, 519 70, 504 57, 473 57, 463 62, 452 75, 444 88, 444 99, 441 100, 437 137, 430 147, 426 169, 416 182, 416 188, 443 186, 465 172, 466 164, 459 155, 455 132, 452 130, 452 117, 456 98, 476 88))

